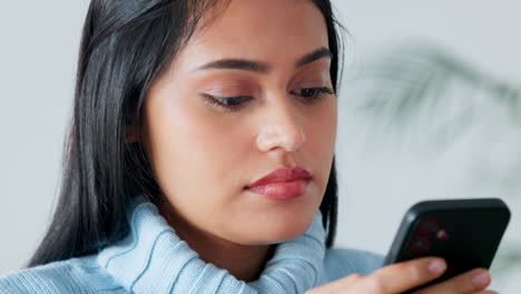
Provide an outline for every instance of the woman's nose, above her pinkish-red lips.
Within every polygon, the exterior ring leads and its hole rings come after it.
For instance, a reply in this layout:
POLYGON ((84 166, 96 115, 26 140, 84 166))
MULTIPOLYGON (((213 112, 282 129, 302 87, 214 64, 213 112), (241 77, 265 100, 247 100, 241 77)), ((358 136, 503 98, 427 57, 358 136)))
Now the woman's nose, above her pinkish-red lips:
POLYGON ((257 136, 260 151, 283 149, 297 151, 306 141, 306 135, 298 121, 298 114, 287 104, 277 104, 267 109, 264 124, 257 136))

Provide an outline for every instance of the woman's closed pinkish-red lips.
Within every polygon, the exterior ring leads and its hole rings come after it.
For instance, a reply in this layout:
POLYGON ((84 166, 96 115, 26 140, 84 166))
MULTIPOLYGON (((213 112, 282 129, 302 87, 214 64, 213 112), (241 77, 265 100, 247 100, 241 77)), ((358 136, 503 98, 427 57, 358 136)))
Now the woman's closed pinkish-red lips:
POLYGON ((246 189, 271 199, 283 200, 304 195, 311 173, 302 167, 282 168, 249 184, 246 189))

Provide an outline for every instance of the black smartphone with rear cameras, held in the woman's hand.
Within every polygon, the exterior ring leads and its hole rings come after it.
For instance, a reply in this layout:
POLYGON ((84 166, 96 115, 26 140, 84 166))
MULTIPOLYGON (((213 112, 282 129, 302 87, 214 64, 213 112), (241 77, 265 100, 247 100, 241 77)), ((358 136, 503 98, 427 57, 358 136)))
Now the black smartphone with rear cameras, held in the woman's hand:
POLYGON ((424 256, 446 261, 441 277, 406 293, 475 267, 490 268, 509 220, 510 210, 499 198, 417 203, 403 217, 384 265, 424 256))

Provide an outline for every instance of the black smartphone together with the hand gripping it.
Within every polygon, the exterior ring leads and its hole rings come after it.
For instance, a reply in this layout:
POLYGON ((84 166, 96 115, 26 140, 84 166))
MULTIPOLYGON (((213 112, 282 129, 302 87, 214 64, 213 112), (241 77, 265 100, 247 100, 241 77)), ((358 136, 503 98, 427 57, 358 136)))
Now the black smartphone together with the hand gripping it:
POLYGON ((507 205, 495 198, 416 204, 405 214, 385 266, 368 275, 340 278, 306 294, 394 294, 420 288, 421 293, 494 293, 483 291, 490 276, 482 268, 490 267, 509 219, 507 205), (484 280, 475 280, 483 274, 484 280))

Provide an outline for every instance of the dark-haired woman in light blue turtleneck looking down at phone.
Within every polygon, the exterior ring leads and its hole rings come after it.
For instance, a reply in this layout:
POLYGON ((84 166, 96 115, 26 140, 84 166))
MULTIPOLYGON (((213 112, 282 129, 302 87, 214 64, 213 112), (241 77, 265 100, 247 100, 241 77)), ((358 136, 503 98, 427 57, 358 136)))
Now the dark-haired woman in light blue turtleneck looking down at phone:
MULTIPOLYGON (((438 258, 377 270, 331 248, 337 40, 326 0, 92 0, 60 202, 0 293, 399 293, 440 276, 438 258)), ((489 283, 475 270, 421 293, 489 283)))

